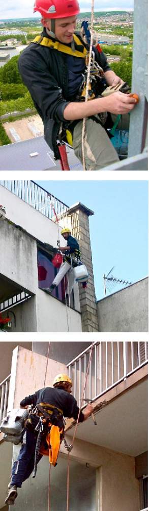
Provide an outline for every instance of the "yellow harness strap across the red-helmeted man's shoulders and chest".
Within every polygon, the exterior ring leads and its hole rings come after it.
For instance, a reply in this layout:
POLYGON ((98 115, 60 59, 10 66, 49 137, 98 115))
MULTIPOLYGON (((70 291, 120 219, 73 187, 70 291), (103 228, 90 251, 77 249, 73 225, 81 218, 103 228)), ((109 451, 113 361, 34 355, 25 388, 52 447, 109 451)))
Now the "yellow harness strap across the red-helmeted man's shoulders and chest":
POLYGON ((63 44, 62 42, 52 41, 52 39, 49 39, 48 37, 43 37, 42 35, 38 35, 37 37, 35 37, 34 41, 32 42, 37 42, 38 44, 41 44, 41 46, 53 48, 53 50, 66 53, 67 55, 72 55, 73 57, 85 58, 88 51, 86 50, 83 43, 80 41, 76 34, 73 35, 73 40, 77 44, 77 46, 82 47, 82 52, 78 50, 72 50, 70 46, 63 44))

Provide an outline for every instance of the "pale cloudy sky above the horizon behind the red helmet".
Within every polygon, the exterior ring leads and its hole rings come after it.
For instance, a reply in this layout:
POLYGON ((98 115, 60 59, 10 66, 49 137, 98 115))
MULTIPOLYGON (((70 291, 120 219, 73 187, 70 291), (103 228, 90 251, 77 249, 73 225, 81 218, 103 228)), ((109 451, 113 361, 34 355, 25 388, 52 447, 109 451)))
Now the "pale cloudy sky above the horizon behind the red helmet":
MULTIPOLYGON (((81 11, 90 11, 91 0, 79 1, 81 11)), ((28 18, 33 16, 34 0, 7 0, 7 4, 1 6, 1 19, 28 18), (6 7, 7 5, 7 7, 6 7)), ((133 0, 95 0, 95 10, 131 10, 133 0)), ((36 15, 35 15, 36 16, 36 15)), ((38 15, 37 15, 38 16, 38 15)))

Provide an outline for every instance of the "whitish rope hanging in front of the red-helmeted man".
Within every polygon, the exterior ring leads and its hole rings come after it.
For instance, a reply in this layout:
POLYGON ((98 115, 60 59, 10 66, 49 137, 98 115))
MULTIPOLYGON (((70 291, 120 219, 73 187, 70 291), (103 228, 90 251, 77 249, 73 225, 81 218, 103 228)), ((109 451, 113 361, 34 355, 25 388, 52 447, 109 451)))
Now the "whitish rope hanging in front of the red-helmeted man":
MULTIPOLYGON (((94 26, 94 0, 92 0, 92 3, 91 3, 91 42, 90 42, 90 53, 89 53, 89 59, 88 59, 85 102, 88 99, 88 89, 89 89, 89 84, 90 84, 90 71, 91 71, 91 59, 92 59, 92 48, 93 48, 93 36, 94 36, 93 26, 94 26)), ((85 151, 84 151, 85 123, 86 123, 86 118, 84 117, 83 124, 82 124, 82 159, 83 159, 83 170, 86 170, 86 166, 85 166, 85 151)))

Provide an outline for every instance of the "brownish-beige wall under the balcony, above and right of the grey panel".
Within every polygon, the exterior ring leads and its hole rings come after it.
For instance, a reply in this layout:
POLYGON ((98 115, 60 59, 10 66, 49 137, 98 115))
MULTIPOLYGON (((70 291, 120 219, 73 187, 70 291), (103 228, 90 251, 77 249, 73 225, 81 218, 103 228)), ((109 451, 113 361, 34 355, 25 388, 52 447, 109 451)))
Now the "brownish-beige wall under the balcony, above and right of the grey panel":
MULTIPOLYGON (((72 438, 66 435, 68 443, 72 438)), ((64 451, 62 444, 61 451, 64 451)), ((99 511, 139 511, 134 457, 75 439, 71 457, 99 467, 99 511)))

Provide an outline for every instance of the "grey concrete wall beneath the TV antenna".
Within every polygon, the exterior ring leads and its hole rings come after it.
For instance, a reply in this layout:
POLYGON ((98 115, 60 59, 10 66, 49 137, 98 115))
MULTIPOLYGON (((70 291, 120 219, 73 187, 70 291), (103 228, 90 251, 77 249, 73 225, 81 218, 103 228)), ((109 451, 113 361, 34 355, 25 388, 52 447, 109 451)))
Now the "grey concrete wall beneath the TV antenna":
POLYGON ((100 332, 148 332, 148 278, 98 301, 100 332))

